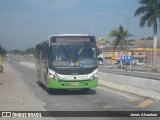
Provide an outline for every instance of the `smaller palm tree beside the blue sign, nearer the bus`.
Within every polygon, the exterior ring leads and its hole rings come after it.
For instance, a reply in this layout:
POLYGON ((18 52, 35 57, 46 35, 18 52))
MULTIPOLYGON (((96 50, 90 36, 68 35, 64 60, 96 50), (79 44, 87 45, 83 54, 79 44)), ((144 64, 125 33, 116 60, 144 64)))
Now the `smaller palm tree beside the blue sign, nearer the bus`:
MULTIPOLYGON (((111 31, 109 36, 115 38, 114 41, 112 42, 114 50, 118 45, 120 45, 120 51, 121 51, 120 56, 122 56, 123 50, 128 47, 126 38, 133 35, 129 34, 128 31, 124 30, 124 28, 120 25, 118 30, 111 31)), ((121 61, 121 69, 122 69, 122 61, 121 61)))

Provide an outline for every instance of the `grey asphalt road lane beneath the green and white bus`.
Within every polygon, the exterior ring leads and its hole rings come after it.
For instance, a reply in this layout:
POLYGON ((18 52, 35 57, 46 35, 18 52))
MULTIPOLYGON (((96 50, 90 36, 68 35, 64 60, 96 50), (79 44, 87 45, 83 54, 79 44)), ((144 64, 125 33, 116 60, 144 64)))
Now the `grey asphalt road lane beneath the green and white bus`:
MULTIPOLYGON (((31 87, 33 93, 46 103, 44 108, 47 111, 160 111, 159 101, 122 91, 115 91, 102 86, 90 89, 88 93, 82 91, 56 91, 52 95, 48 95, 44 86, 37 84, 36 72, 33 68, 21 65, 14 58, 10 59, 8 63, 12 65, 19 77, 31 87)), ((101 71, 103 70, 105 69, 101 69, 101 71)), ((57 119, 65 120, 66 118, 57 119)), ((77 119, 81 120, 82 118, 77 119)), ((87 119, 106 120, 103 117, 87 119)), ((107 119, 114 120, 117 118, 107 119)), ((124 118, 119 119, 124 120, 124 118)), ((128 118, 125 119, 127 120, 128 118)), ((148 118, 148 120, 150 119, 148 118)))

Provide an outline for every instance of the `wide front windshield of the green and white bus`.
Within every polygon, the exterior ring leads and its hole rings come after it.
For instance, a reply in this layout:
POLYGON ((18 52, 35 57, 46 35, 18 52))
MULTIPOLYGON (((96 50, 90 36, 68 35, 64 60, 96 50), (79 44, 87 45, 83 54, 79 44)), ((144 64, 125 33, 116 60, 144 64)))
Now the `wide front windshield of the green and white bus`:
POLYGON ((96 67, 96 47, 93 45, 54 45, 51 47, 51 65, 57 68, 96 67))

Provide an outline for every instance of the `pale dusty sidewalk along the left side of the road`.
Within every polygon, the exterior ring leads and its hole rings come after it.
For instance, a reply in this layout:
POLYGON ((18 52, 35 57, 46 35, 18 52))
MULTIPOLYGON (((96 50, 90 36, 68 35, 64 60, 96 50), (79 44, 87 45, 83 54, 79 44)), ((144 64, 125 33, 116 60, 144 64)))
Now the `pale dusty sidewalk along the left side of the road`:
MULTIPOLYGON (((23 81, 14 68, 7 63, 4 63, 3 66, 4 72, 0 73, 0 111, 46 111, 45 103, 35 96, 30 86, 23 81)), ((17 118, 14 119, 17 120, 17 118)), ((48 120, 50 118, 28 119, 48 120)))

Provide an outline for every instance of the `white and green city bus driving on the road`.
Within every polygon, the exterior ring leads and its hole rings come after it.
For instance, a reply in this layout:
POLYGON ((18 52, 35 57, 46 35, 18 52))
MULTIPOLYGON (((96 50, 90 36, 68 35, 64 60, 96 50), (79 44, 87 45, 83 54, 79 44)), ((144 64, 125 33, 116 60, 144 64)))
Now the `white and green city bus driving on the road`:
POLYGON ((38 82, 51 89, 88 91, 98 84, 96 38, 87 34, 51 35, 36 45, 38 82))

